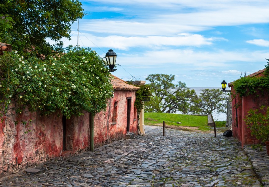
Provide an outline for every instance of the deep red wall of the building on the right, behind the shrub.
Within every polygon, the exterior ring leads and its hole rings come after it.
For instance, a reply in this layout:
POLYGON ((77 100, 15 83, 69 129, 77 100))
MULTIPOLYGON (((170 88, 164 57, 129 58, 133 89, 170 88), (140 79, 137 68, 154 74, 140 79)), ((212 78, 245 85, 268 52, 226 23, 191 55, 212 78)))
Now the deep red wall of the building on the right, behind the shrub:
MULTIPOLYGON (((231 92, 234 93, 234 88, 231 86, 231 92)), ((236 126, 236 108, 235 108, 235 98, 232 100, 233 104, 233 136, 239 139, 242 143, 242 147, 248 144, 260 143, 254 136, 251 136, 251 131, 247 128, 245 121, 243 120, 250 109, 259 109, 262 105, 269 106, 269 93, 261 93, 257 90, 255 95, 249 95, 244 97, 239 97, 236 95, 237 113, 238 113, 238 126, 236 126), (258 96, 257 96, 258 95, 258 96)))

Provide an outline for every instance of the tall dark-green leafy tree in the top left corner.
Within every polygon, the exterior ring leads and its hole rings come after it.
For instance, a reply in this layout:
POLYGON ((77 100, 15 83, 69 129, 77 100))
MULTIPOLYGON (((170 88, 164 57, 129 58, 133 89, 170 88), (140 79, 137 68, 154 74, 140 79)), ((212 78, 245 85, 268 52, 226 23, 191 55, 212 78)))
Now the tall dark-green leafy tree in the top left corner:
MULTIPOLYGON (((78 0, 2 0, 0 4, 0 40, 19 51, 50 54, 51 39, 62 45, 70 39, 71 24, 82 18, 78 0)), ((24 54, 26 56, 26 54, 24 54)))

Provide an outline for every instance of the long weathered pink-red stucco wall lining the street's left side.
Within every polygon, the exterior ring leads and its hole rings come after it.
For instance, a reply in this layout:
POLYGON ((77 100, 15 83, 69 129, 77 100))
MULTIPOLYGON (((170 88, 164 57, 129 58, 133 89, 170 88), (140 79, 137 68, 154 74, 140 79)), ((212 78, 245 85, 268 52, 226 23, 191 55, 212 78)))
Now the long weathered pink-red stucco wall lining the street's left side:
MULTIPOLYGON (((127 98, 131 99, 130 132, 137 133, 134 109, 135 91, 115 90, 108 100, 106 112, 94 117, 94 146, 121 139, 127 133, 127 98), (112 123, 114 102, 118 102, 117 120, 112 123)), ((71 154, 89 147, 90 114, 66 120, 66 150, 71 154)), ((60 157, 63 153, 63 116, 56 112, 40 116, 26 108, 16 114, 10 106, 0 120, 0 177, 13 174, 28 166, 47 159, 60 157)))

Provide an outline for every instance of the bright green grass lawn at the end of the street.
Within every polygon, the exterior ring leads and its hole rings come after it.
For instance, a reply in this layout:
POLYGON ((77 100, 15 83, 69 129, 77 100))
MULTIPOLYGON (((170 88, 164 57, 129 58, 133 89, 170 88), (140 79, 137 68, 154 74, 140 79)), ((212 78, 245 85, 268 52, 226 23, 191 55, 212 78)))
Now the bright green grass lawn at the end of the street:
POLYGON ((175 125, 175 126, 200 126, 198 130, 208 131, 212 130, 211 127, 207 126, 207 116, 198 115, 183 115, 183 114, 166 114, 166 113, 145 113, 145 125, 157 125, 163 124, 175 125), (173 123, 174 122, 174 123, 173 123), (177 124, 181 122, 182 124, 177 124))

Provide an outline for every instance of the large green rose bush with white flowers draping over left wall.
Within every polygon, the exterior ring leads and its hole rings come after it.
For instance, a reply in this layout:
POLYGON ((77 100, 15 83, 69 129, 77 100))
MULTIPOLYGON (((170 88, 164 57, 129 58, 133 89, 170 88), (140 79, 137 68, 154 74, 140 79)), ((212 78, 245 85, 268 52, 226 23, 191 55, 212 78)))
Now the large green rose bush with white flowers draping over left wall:
POLYGON ((16 112, 25 106, 42 115, 61 111, 67 118, 96 114, 106 109, 113 96, 110 73, 95 51, 68 47, 59 56, 28 59, 16 53, 0 58, 2 114, 12 101, 16 112))

